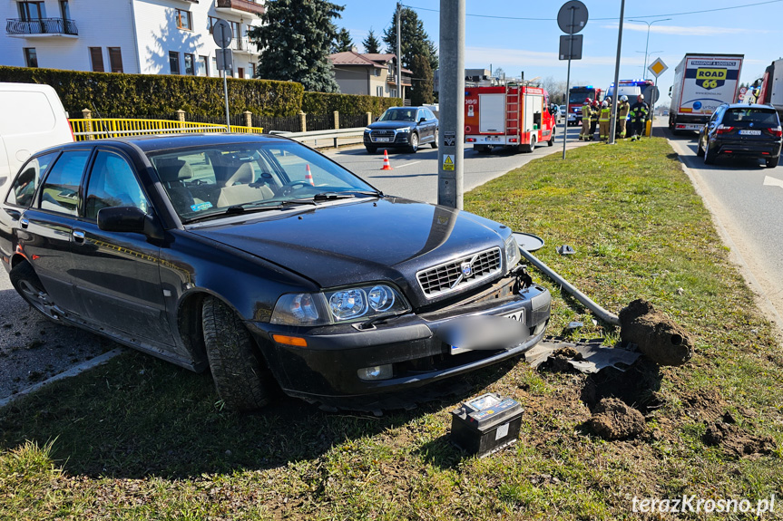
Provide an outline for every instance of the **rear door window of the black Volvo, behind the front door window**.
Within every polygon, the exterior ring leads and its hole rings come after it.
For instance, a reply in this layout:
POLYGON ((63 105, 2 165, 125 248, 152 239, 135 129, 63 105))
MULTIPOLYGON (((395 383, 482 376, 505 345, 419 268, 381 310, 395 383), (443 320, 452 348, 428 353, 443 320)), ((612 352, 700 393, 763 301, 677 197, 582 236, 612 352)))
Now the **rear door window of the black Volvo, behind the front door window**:
POLYGON ((79 183, 90 150, 63 152, 60 159, 49 170, 41 189, 42 210, 76 216, 79 212, 79 183))

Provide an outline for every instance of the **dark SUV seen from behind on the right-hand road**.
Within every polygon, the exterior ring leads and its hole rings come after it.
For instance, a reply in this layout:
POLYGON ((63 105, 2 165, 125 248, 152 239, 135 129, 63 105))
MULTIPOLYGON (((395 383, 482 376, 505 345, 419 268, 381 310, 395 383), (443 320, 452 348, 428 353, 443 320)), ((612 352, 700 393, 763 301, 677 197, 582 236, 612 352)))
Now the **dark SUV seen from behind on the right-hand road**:
POLYGON ((778 166, 783 144, 778 112, 769 105, 724 103, 699 132, 696 155, 711 164, 719 156, 764 159, 778 166))

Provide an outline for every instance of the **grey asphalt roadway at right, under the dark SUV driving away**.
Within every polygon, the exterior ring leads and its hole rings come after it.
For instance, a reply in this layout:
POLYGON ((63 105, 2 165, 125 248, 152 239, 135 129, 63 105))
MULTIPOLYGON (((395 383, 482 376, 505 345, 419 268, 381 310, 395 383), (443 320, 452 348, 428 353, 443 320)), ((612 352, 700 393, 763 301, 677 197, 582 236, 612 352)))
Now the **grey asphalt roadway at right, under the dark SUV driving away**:
POLYGON ((747 265, 746 278, 768 300, 762 307, 771 304, 766 311, 783 327, 783 166, 768 169, 761 160, 739 158, 705 165, 696 155, 697 134, 664 132, 728 235, 727 246, 747 265))

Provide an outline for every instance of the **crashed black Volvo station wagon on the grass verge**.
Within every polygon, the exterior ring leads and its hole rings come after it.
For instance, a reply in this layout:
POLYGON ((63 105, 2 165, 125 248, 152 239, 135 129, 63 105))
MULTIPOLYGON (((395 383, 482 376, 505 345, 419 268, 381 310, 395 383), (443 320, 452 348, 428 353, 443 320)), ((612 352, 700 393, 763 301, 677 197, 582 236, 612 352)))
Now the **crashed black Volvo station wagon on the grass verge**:
POLYGON ((210 369, 233 410, 278 388, 382 409, 519 355, 550 316, 508 227, 387 196, 279 136, 65 144, 0 207, 2 264, 35 310, 210 369))

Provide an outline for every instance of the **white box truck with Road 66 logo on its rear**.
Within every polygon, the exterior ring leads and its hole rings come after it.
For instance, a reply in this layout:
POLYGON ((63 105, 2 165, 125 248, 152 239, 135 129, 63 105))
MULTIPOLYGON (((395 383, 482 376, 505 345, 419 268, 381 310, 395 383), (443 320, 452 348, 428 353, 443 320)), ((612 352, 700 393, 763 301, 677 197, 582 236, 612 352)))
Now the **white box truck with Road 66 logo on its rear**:
POLYGON ((723 103, 737 101, 744 54, 688 53, 674 68, 669 128, 700 130, 723 103))

